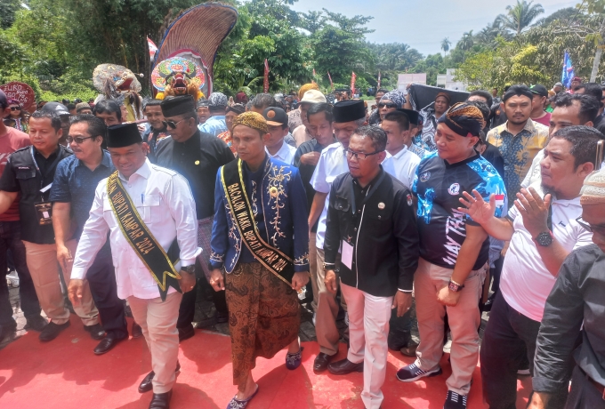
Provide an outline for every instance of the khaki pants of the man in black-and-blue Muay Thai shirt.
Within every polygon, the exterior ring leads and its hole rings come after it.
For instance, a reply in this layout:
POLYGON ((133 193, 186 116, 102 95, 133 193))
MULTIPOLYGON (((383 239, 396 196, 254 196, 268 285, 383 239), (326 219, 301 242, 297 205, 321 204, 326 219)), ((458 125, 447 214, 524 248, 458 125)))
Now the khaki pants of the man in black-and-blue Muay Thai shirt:
POLYGON ((415 365, 424 371, 431 371, 439 366, 443 356, 443 318, 448 311, 452 333, 449 356, 452 374, 446 384, 449 390, 461 395, 468 395, 472 373, 479 359, 479 299, 486 269, 487 264, 481 269, 471 271, 464 281, 464 289, 456 307, 440 304, 436 295, 441 288, 448 285, 453 269, 436 266, 421 258, 414 275, 416 318, 420 333, 415 365))

